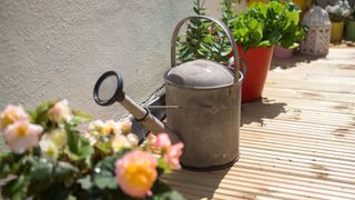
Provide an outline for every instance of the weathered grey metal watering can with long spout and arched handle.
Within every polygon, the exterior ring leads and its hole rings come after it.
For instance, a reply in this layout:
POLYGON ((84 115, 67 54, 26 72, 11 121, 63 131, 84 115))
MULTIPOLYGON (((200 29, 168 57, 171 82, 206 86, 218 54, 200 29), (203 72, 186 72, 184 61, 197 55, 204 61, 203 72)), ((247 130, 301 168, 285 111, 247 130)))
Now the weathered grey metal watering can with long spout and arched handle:
POLYGON ((192 19, 219 24, 231 41, 234 66, 240 69, 236 44, 229 28, 210 17, 181 20, 171 40, 171 66, 164 74, 166 124, 132 101, 123 91, 123 79, 114 71, 102 74, 94 87, 100 106, 120 102, 153 133, 168 132, 173 141, 185 144, 181 164, 192 170, 213 170, 232 166, 239 159, 241 87, 243 73, 234 73, 217 62, 194 60, 176 67, 176 38, 181 27, 192 19), (113 88, 112 88, 113 87, 113 88))

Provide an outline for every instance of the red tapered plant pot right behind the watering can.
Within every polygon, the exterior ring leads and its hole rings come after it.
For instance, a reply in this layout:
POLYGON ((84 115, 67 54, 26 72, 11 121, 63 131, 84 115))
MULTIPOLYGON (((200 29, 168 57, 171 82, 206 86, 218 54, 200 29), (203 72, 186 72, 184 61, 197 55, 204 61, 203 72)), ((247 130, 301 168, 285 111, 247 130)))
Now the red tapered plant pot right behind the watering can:
POLYGON ((262 97, 274 47, 250 48, 244 52, 243 48, 237 46, 237 50, 240 57, 246 61, 246 76, 242 87, 242 102, 257 100, 262 97))

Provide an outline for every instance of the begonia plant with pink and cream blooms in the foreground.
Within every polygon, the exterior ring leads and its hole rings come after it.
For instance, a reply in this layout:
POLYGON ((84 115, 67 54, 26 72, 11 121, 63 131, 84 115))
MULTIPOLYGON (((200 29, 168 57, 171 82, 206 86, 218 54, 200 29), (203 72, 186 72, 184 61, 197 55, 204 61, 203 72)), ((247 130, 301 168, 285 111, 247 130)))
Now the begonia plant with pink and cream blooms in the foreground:
POLYGON ((2 197, 7 199, 182 199, 159 180, 179 169, 182 143, 168 134, 138 146, 130 122, 93 121, 68 101, 42 103, 33 112, 9 106, 0 132, 9 150, 0 152, 2 197), (153 156, 153 152, 154 156, 153 156))

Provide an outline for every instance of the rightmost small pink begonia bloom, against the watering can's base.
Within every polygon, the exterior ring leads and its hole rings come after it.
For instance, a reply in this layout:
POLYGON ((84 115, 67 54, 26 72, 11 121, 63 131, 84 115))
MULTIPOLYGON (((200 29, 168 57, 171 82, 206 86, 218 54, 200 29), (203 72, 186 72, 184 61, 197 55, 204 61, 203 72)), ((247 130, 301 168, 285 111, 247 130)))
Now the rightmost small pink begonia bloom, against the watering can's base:
POLYGON ((171 169, 178 170, 181 168, 180 157, 182 154, 183 148, 184 148, 184 144, 182 142, 179 142, 170 147, 165 152, 164 160, 171 169))

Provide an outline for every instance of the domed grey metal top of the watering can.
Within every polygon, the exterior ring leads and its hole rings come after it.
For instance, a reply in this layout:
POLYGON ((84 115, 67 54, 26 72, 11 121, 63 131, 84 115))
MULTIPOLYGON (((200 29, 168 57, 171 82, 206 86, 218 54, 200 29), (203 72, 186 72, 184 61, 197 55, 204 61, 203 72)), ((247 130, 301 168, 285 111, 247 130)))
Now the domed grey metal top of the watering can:
POLYGON ((182 88, 212 89, 232 86, 233 73, 222 64, 210 60, 194 60, 172 68, 165 81, 182 88))

